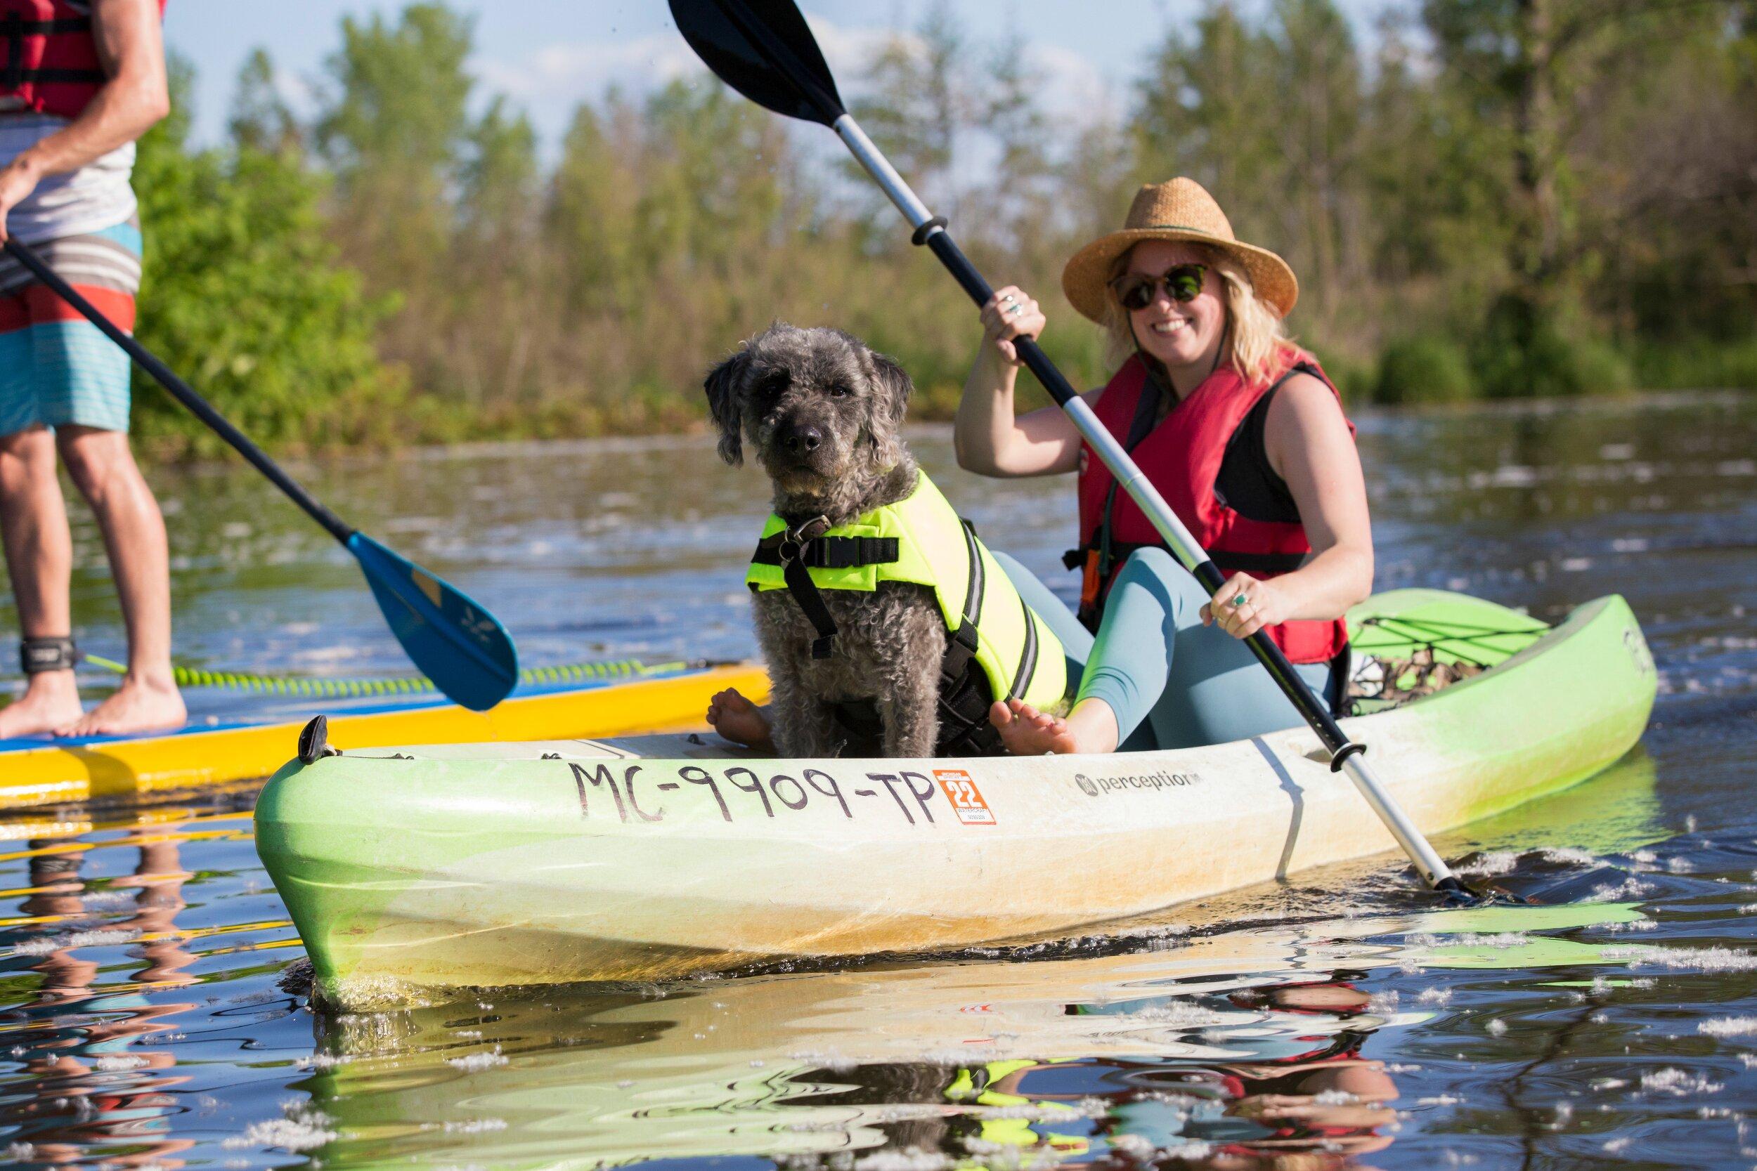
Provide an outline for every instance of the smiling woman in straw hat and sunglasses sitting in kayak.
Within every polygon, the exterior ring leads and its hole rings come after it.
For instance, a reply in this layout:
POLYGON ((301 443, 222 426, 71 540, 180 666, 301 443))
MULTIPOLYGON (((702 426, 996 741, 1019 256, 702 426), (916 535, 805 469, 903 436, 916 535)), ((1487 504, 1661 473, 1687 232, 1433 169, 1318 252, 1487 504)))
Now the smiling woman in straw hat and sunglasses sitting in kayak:
POLYGON ((1000 290, 982 307, 958 462, 986 476, 1079 472, 1081 618, 1096 625, 1086 636, 1009 562, 1084 664, 1066 718, 994 704, 1007 748, 1182 748, 1291 727, 1297 713, 1242 641, 1256 630, 1334 702, 1342 614, 1372 590, 1372 532, 1353 427, 1316 358, 1283 332, 1293 270, 1237 241, 1200 184, 1172 179, 1144 186, 1123 230, 1082 248, 1061 286, 1109 330, 1119 362, 1086 400, 1228 579, 1212 597, 1200 588, 1058 407, 1016 416, 1012 342, 1047 321, 1023 290, 1000 290))

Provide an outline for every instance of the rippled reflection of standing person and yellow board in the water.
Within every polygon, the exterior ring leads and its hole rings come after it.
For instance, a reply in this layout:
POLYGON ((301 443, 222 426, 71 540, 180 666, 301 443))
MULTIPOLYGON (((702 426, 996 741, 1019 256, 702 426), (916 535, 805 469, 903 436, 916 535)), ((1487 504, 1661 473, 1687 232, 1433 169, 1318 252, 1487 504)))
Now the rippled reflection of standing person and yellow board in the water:
POLYGON ((213 1001, 195 994, 202 955, 190 945, 230 932, 179 923, 195 880, 183 851, 235 837, 237 815, 170 808, 7 829, 23 848, 0 853, 0 874, 23 885, 0 892, 16 908, 0 918, 5 1162, 184 1166, 197 1138, 177 1045, 213 1001))

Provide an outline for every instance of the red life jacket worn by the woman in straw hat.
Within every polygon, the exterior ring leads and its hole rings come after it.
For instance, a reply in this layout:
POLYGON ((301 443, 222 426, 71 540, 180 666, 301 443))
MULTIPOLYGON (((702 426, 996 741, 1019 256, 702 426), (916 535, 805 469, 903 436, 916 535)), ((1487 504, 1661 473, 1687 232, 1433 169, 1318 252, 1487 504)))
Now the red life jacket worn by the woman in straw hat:
MULTIPOLYGON (((1093 404, 1093 411, 1110 434, 1126 437, 1124 446, 1147 479, 1189 527, 1189 534, 1223 574, 1242 571, 1253 578, 1279 578, 1298 569, 1311 553, 1304 525, 1240 516, 1214 493, 1226 444, 1232 442, 1239 423, 1265 393, 1293 372, 1311 374, 1335 393, 1335 386, 1314 356, 1302 349, 1288 349, 1276 358, 1269 377, 1256 383, 1246 383, 1230 367, 1216 370, 1174 404, 1165 420, 1154 427, 1149 409, 1154 406, 1153 397, 1147 395, 1149 400, 1144 402, 1142 393, 1147 388, 1147 367, 1140 355, 1135 355, 1123 363, 1093 404)), ((1349 423, 1348 430, 1353 434, 1355 425, 1349 423)), ((1086 571, 1081 618, 1096 627, 1103 597, 1110 592, 1110 583, 1128 553, 1142 546, 1165 548, 1165 542, 1140 506, 1128 493, 1116 492, 1110 469, 1084 444, 1079 483, 1081 550, 1070 557, 1084 562, 1086 571)), ((1265 632, 1297 664, 1328 662, 1348 646, 1348 623, 1342 618, 1284 621, 1267 627, 1265 632)))

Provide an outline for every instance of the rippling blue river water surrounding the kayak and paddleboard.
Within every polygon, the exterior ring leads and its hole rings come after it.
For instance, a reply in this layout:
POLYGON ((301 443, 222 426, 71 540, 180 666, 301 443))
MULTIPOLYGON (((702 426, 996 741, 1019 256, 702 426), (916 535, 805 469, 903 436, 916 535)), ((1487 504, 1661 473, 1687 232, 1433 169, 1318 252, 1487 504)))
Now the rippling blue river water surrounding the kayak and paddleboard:
MULTIPOLYGON (((288 971, 302 953, 251 848, 251 787, 0 815, 0 1155, 1752 1166, 1757 400, 1360 423, 1381 588, 1543 618, 1620 592, 1653 646, 1641 750, 1437 843, 1546 906, 1435 911, 1376 858, 1054 946, 337 1018, 288 971)), ((1051 572, 1066 483, 961 476, 942 432, 915 448, 986 537, 1051 572)), ((705 442, 299 472, 508 616, 532 664, 752 651, 740 562, 759 481, 705 442)), ((255 478, 155 481, 186 662, 404 671, 348 557, 255 478)), ((77 542, 81 637, 119 655, 97 534, 77 542)))

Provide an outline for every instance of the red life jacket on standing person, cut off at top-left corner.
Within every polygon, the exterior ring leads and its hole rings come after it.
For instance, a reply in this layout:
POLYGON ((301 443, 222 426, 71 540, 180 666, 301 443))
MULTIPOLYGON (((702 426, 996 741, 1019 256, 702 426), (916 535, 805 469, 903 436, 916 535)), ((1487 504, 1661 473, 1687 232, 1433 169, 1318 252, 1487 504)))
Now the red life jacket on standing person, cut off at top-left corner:
POLYGON ((90 4, 0 0, 0 111, 79 118, 107 81, 90 4))

